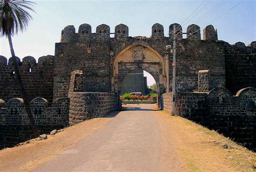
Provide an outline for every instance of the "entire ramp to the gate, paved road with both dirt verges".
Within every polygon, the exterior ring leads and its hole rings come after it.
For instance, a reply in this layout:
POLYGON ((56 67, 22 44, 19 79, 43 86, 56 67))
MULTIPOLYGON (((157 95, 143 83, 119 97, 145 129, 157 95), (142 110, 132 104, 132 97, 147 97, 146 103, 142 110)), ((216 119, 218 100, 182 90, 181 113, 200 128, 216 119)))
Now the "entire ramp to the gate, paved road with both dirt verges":
POLYGON ((126 111, 84 121, 47 140, 4 149, 3 171, 250 171, 255 154, 217 132, 157 111, 126 111), (15 166, 13 165, 15 162, 15 166))

